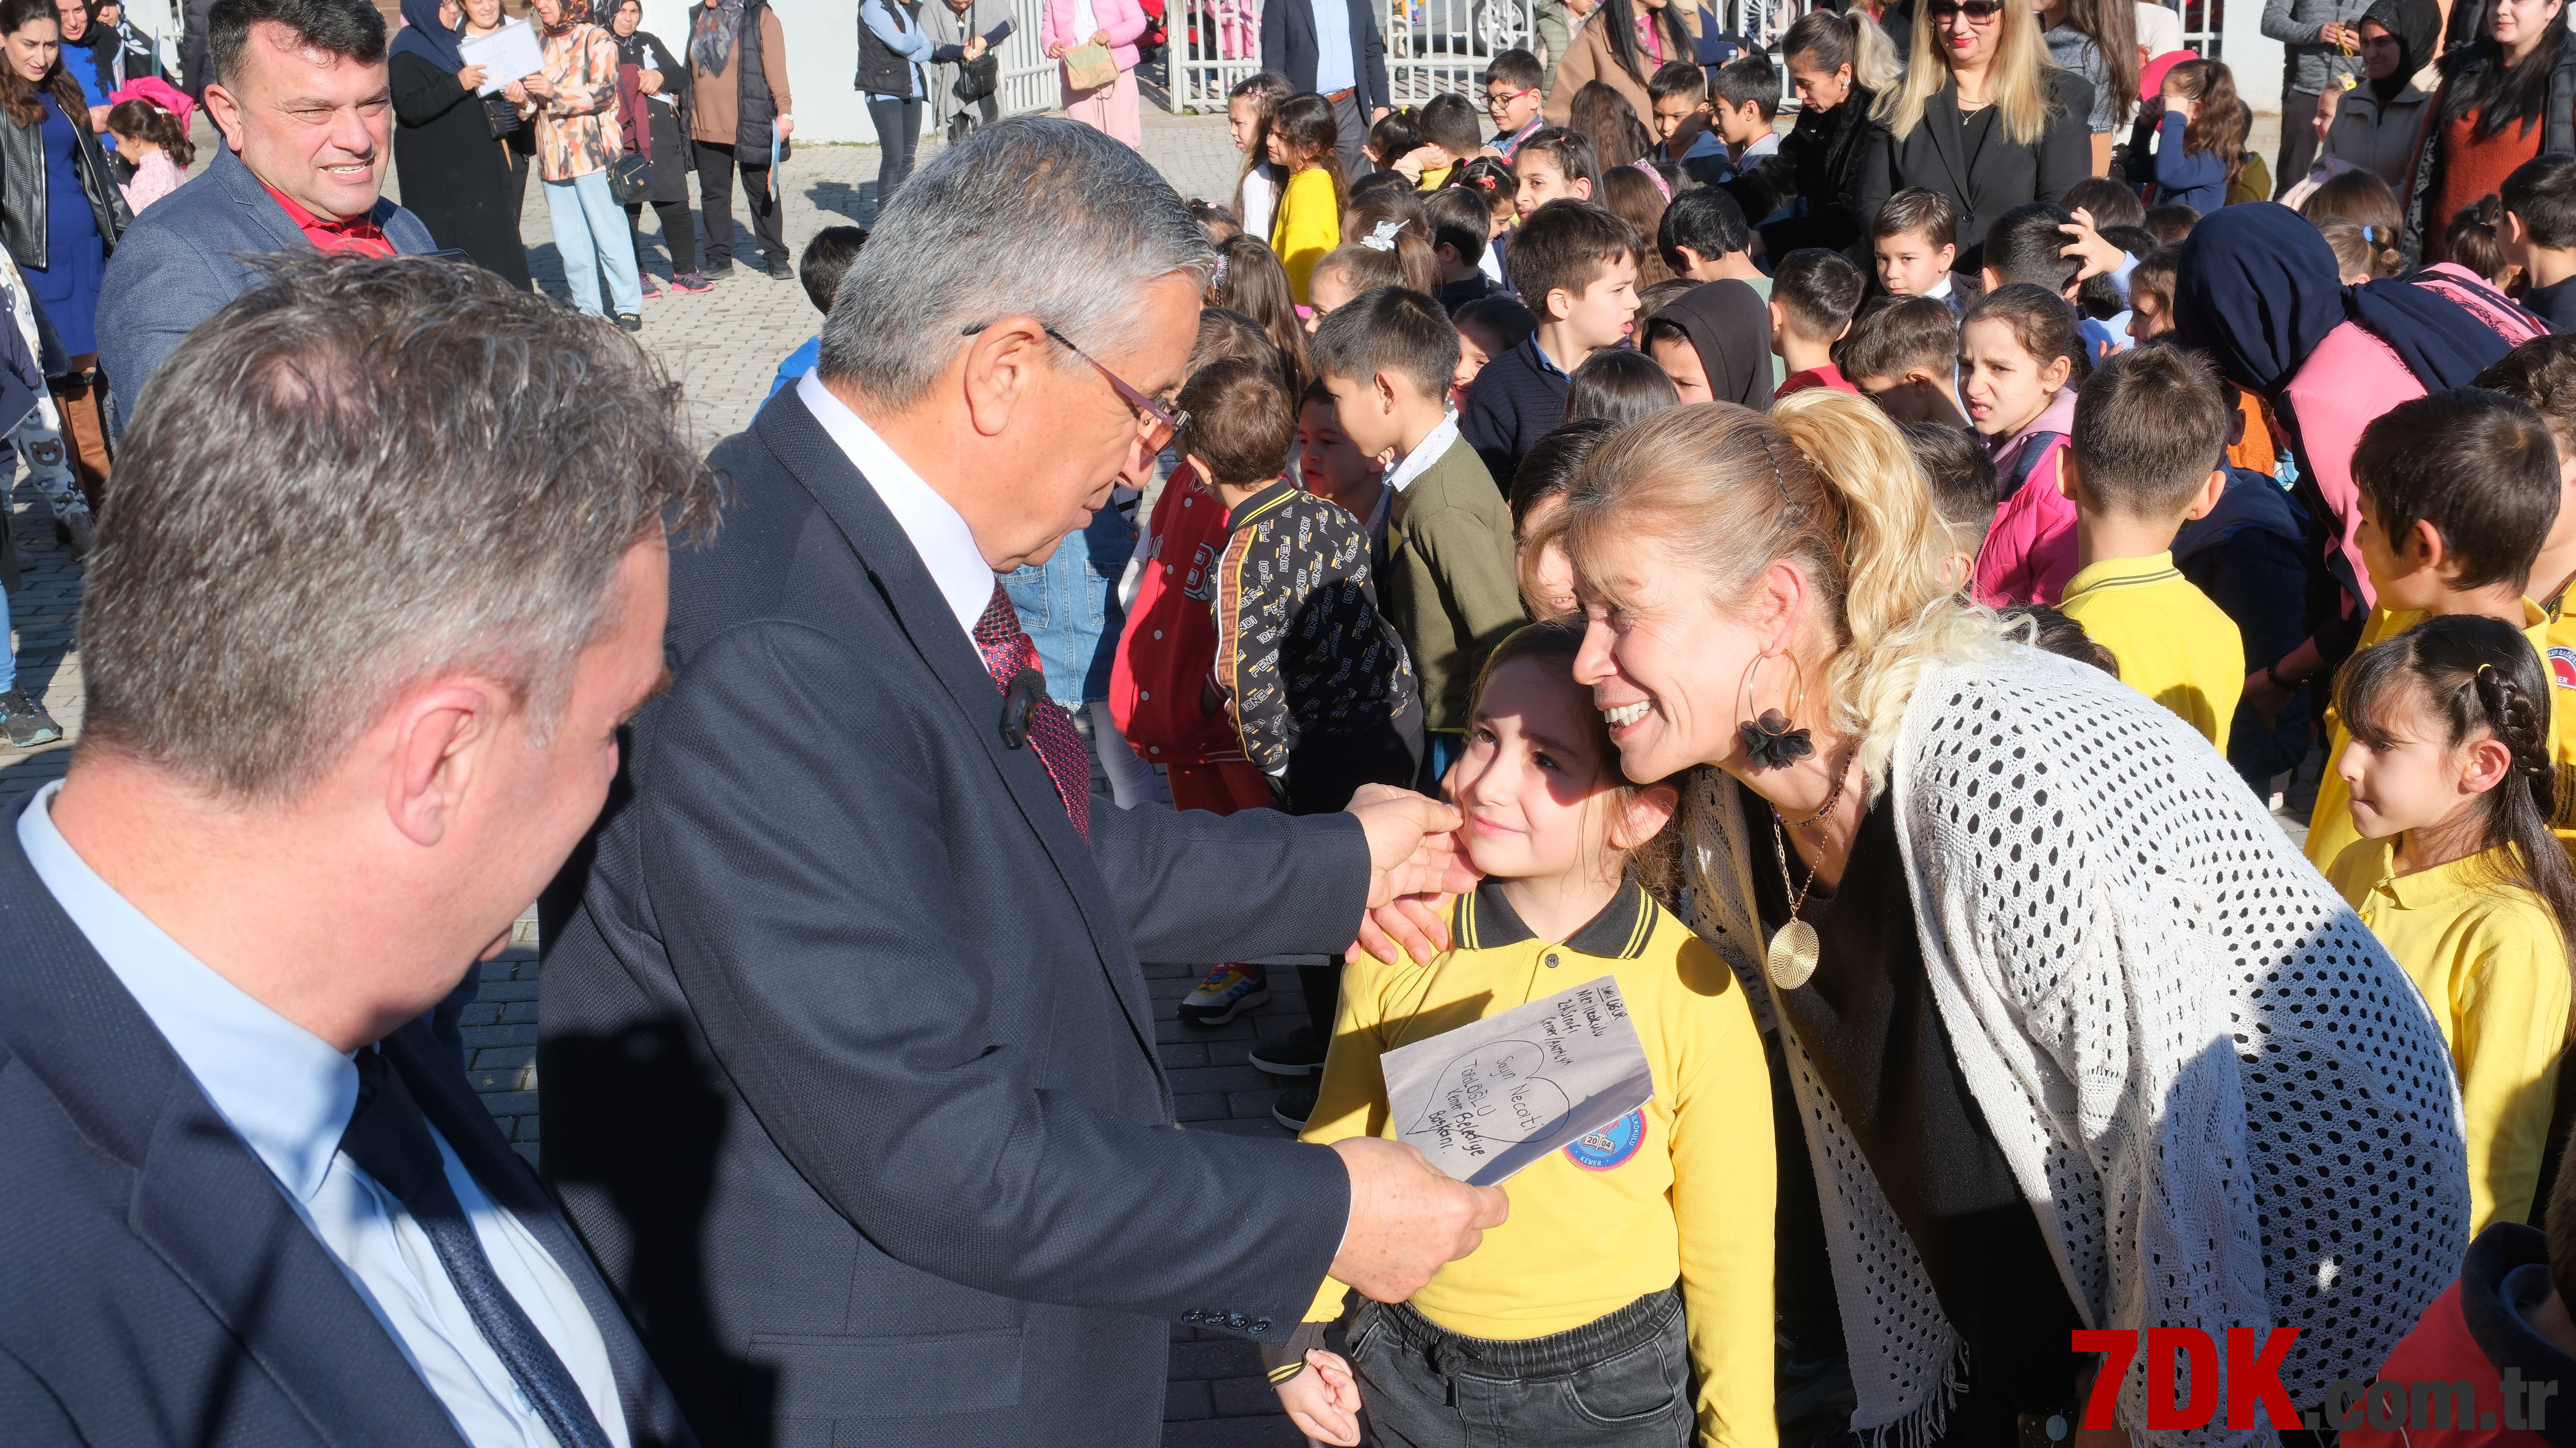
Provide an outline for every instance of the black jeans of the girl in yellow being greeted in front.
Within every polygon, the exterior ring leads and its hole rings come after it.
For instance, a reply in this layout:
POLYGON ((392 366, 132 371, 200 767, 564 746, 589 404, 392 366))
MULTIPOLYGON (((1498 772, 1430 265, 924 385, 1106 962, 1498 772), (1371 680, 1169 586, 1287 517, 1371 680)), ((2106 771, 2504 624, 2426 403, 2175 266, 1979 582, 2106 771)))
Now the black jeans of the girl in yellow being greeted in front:
POLYGON ((1497 1342, 1360 1304, 1350 1366, 1383 1448, 1690 1448, 1690 1337, 1664 1288, 1582 1327, 1497 1342))

